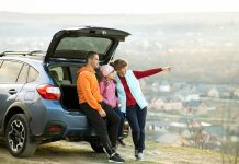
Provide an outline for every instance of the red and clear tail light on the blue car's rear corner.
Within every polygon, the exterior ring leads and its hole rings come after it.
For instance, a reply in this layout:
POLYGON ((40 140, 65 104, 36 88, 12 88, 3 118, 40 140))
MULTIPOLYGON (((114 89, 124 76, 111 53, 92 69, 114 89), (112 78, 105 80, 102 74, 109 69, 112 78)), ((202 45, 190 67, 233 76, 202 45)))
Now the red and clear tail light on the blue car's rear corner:
POLYGON ((39 85, 36 90, 45 99, 58 101, 60 98, 60 90, 54 85, 43 84, 39 85))

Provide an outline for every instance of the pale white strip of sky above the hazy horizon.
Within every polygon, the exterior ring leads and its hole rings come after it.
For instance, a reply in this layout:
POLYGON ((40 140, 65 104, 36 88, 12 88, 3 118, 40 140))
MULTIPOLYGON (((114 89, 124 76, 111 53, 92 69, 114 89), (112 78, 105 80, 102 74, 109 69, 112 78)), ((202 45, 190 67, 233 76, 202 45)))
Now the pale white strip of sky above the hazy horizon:
POLYGON ((235 12, 237 0, 0 0, 0 11, 22 13, 235 12))

